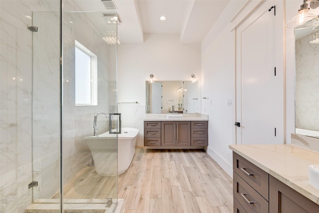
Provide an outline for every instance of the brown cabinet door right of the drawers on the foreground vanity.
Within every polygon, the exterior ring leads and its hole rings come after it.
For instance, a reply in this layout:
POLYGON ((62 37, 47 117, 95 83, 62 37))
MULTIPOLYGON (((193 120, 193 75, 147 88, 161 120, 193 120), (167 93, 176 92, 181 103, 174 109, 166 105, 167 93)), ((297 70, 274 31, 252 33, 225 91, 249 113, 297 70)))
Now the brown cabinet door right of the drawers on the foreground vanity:
POLYGON ((319 205, 269 176, 270 213, 319 213, 319 205))

